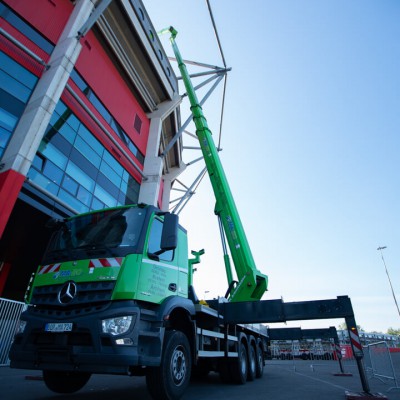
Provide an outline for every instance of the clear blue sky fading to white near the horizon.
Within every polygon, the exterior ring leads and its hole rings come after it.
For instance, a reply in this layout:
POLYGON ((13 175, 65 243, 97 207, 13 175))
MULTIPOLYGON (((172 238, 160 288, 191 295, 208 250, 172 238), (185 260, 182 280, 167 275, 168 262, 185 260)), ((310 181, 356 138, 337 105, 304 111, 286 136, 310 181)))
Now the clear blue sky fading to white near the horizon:
MULTIPOLYGON (((157 30, 178 30, 185 59, 222 66, 205 1, 145 6, 157 30)), ((387 246, 400 301, 400 3, 211 0, 211 6, 232 67, 221 160, 258 269, 269 276, 264 298, 348 295, 365 330, 400 328, 376 250, 387 246)), ((172 55, 167 38, 162 42, 172 55)), ((215 138, 221 89, 204 106, 215 138)), ((184 143, 193 145, 186 136, 184 143)), ((184 152, 186 162, 197 156, 184 152)), ((201 168, 197 163, 180 179, 190 184, 201 168)), ((191 249, 206 250, 195 274, 199 297, 223 295, 227 287, 213 207, 204 179, 180 215, 191 249)))

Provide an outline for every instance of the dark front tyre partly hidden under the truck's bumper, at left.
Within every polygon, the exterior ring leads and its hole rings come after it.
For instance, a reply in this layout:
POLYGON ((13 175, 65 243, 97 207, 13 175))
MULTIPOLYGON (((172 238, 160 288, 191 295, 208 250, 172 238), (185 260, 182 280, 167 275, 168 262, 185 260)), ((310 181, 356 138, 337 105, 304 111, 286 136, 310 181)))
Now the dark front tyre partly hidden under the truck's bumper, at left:
POLYGON ((56 393, 74 393, 82 389, 91 374, 88 372, 72 371, 43 371, 43 381, 46 386, 56 393))

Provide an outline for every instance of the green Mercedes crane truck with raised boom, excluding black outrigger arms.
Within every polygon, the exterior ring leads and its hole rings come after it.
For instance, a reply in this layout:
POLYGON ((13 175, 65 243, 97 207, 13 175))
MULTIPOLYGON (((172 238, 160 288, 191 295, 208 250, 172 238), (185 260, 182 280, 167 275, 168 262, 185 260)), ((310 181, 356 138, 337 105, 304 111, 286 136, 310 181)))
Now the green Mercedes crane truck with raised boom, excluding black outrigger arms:
POLYGON ((179 399, 192 373, 217 371, 240 384, 263 373, 266 328, 229 324, 219 306, 260 300, 267 277, 255 266, 176 31, 169 31, 237 281, 226 251, 227 293, 209 304, 199 301, 193 266, 204 251, 188 258, 187 232, 177 215, 154 206, 53 221, 10 360, 12 368, 42 370, 54 392, 75 392, 91 374, 145 375, 154 399, 179 399))

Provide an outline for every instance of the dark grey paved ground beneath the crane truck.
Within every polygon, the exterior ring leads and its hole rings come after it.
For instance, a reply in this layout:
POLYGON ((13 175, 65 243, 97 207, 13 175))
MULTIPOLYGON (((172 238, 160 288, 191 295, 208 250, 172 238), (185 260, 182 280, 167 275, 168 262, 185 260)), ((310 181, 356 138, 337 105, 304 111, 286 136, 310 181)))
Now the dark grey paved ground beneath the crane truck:
MULTIPOLYGON (((393 356, 393 364, 400 379, 400 353, 393 356)), ((344 363, 344 368, 353 376, 334 376, 339 372, 335 361, 272 360, 267 362, 261 379, 243 386, 223 384, 213 373, 203 380, 195 380, 184 400, 344 400, 346 390, 362 391, 355 363, 344 363)), ((37 371, 0 367, 0 397, 7 400, 150 400, 144 378, 97 375, 73 395, 50 392, 40 378, 37 371)), ((395 386, 393 381, 383 383, 372 378, 369 384, 372 392, 381 392, 389 400, 400 400, 400 389, 388 391, 395 386)))

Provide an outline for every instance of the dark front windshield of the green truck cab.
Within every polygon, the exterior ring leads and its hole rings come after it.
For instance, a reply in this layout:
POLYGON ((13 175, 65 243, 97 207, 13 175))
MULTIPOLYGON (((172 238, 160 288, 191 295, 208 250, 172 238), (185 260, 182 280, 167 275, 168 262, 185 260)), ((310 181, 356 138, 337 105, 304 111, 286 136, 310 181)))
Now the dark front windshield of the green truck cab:
POLYGON ((123 208, 73 218, 54 234, 47 254, 63 250, 135 247, 145 214, 142 209, 123 208))

